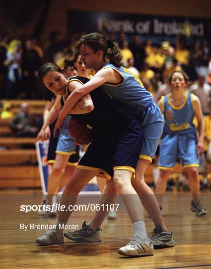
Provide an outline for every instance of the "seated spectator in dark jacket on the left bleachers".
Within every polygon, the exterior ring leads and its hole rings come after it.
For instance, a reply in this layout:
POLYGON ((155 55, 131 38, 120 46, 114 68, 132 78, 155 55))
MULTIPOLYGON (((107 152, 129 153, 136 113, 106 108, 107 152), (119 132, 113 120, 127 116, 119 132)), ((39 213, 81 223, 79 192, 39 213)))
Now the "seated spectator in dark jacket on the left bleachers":
POLYGON ((21 112, 9 123, 12 132, 18 137, 36 137, 39 129, 35 118, 30 114, 29 103, 21 105, 21 112))

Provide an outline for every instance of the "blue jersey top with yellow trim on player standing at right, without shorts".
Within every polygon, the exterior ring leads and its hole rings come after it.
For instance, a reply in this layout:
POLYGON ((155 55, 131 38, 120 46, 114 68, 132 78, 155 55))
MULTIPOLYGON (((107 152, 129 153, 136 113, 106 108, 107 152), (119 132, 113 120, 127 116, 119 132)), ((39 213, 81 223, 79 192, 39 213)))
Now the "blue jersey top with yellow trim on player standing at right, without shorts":
POLYGON ((163 96, 162 99, 165 119, 164 133, 179 132, 180 134, 185 134, 196 129, 193 124, 192 94, 186 92, 184 103, 179 107, 175 107, 170 102, 169 95, 163 96))

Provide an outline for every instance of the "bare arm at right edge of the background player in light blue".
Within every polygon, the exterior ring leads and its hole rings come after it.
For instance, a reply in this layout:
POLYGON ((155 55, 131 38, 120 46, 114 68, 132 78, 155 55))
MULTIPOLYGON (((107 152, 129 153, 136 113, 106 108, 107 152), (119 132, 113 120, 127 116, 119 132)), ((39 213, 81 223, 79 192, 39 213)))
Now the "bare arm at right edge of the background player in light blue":
POLYGON ((193 106, 193 110, 198 121, 197 149, 199 150, 199 154, 201 156, 204 152, 205 125, 204 125, 201 103, 199 101, 199 98, 195 95, 192 95, 192 106, 193 106))

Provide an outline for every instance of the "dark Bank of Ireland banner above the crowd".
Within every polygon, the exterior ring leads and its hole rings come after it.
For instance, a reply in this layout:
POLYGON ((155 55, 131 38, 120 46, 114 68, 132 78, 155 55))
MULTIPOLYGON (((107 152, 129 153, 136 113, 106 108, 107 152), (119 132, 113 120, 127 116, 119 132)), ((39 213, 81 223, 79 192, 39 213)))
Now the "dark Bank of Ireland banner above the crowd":
POLYGON ((155 44, 169 40, 172 45, 175 44, 175 37, 182 32, 188 37, 187 44, 193 45, 196 40, 211 37, 211 20, 70 10, 68 33, 74 32, 101 32, 103 34, 124 32, 129 37, 129 41, 132 36, 139 34, 143 42, 150 38, 155 44))

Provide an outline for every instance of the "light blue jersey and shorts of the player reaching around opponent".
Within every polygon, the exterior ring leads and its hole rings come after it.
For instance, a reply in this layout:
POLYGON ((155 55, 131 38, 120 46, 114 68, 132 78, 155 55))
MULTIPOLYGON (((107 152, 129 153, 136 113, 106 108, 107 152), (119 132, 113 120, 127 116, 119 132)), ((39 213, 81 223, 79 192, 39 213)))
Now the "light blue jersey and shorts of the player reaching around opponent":
POLYGON ((120 84, 105 83, 100 88, 126 108, 128 113, 136 116, 143 130, 140 158, 151 162, 163 131, 163 119, 159 107, 145 90, 139 77, 127 68, 117 67, 110 62, 103 68, 112 68, 122 77, 120 84))

